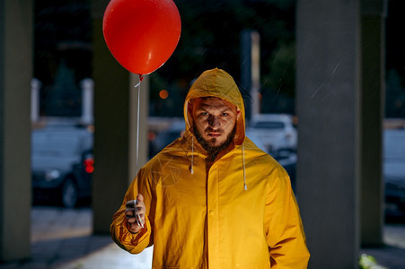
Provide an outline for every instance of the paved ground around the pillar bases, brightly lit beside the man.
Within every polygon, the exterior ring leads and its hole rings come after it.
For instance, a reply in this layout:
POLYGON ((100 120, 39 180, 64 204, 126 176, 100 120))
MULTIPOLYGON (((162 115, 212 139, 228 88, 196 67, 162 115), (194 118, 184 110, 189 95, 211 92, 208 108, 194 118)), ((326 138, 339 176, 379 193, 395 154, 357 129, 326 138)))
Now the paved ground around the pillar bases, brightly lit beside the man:
MULTIPOLYGON (((0 269, 151 268, 152 248, 134 256, 112 243, 110 236, 92 235, 89 208, 35 206, 31 220, 31 259, 0 265, 0 269)), ((376 257, 387 268, 405 268, 405 223, 386 225, 384 241, 386 247, 362 249, 361 253, 376 257)))

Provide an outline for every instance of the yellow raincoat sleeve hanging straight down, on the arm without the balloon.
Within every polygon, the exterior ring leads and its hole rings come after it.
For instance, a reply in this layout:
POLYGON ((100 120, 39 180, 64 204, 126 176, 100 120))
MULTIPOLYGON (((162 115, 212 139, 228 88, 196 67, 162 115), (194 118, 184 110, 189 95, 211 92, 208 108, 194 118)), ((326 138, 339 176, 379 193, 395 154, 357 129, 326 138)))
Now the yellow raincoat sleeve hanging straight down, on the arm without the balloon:
POLYGON ((265 230, 272 269, 306 268, 309 252, 295 195, 286 170, 271 175, 266 195, 265 230))

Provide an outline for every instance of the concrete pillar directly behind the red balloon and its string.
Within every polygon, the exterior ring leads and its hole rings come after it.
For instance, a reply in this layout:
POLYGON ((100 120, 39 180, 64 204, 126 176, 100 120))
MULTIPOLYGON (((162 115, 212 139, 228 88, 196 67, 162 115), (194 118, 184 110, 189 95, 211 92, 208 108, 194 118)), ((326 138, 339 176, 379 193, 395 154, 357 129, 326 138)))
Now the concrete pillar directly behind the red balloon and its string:
MULTIPOLYGON (((102 16, 109 1, 92 0, 94 80, 93 232, 107 233, 136 176, 136 82, 110 54, 102 35, 102 16), (135 125, 135 127, 134 127, 135 125)), ((139 165, 146 160, 147 76, 141 86, 139 165)), ((137 96, 137 95, 136 95, 137 96)))

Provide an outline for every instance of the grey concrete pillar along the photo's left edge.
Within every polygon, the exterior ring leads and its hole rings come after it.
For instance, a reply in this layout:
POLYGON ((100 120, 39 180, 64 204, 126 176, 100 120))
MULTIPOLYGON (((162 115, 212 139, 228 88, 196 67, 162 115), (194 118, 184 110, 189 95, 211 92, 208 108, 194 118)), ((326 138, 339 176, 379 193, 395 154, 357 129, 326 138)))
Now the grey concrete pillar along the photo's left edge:
POLYGON ((31 256, 33 3, 0 0, 0 261, 31 256))

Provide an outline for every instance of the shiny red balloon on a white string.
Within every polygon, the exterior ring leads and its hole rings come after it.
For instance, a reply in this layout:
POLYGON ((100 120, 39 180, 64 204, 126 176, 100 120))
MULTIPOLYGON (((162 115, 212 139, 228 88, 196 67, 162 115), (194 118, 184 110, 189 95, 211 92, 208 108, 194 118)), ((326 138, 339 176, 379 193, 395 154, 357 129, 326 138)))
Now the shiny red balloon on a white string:
POLYGON ((180 13, 172 0, 111 0, 102 32, 119 64, 135 74, 151 74, 179 43, 180 13))

